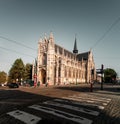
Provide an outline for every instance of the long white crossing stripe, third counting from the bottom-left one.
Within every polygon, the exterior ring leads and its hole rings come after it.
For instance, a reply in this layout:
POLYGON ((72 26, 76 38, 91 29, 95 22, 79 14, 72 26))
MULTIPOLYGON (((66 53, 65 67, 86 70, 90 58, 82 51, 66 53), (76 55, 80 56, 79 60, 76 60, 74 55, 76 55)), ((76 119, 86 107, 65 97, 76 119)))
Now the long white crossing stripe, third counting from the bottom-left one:
POLYGON ((99 112, 97 112, 97 111, 93 111, 93 110, 86 109, 86 108, 81 108, 81 107, 75 107, 75 106, 72 106, 72 105, 57 103, 57 102, 53 102, 53 101, 46 101, 46 102, 44 102, 44 104, 52 105, 52 106, 56 106, 56 107, 63 107, 63 108, 67 108, 67 109, 70 109, 70 110, 86 113, 86 114, 89 114, 89 115, 94 115, 94 116, 99 115, 99 112))

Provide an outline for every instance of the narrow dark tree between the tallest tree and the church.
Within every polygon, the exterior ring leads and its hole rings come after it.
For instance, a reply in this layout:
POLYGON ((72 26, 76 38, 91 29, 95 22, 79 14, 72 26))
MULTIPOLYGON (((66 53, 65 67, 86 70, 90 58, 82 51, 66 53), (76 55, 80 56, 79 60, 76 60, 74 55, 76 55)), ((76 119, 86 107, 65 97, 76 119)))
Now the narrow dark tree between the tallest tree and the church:
POLYGON ((25 80, 32 79, 32 64, 27 63, 25 66, 25 80))

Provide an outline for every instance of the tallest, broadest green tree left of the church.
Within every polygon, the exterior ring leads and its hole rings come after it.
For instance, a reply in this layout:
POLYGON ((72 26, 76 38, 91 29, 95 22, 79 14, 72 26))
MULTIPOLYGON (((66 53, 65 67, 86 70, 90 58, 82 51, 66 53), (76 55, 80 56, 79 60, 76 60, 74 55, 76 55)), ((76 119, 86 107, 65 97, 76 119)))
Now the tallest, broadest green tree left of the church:
POLYGON ((9 82, 21 82, 21 79, 24 79, 25 66, 22 59, 16 59, 9 71, 9 82))

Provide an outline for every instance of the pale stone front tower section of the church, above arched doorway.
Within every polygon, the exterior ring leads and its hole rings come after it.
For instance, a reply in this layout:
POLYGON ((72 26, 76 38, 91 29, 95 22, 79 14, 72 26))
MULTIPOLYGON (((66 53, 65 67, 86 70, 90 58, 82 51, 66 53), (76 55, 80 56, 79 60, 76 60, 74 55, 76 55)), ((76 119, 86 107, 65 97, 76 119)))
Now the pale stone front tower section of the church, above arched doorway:
POLYGON ((55 62, 54 36, 50 33, 47 38, 40 39, 38 43, 38 73, 37 79, 41 84, 54 84, 54 62, 55 62))

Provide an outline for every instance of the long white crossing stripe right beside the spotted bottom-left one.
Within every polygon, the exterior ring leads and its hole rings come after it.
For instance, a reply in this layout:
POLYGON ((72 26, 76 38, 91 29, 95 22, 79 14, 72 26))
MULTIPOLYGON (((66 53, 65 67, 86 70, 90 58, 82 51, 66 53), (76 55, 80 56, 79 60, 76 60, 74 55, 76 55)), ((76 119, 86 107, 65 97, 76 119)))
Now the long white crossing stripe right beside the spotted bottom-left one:
POLYGON ((70 114, 67 112, 63 112, 63 111, 60 111, 57 109, 53 109, 53 108, 49 108, 49 107, 45 107, 45 106, 41 106, 41 105, 32 105, 32 106, 29 106, 29 108, 43 111, 45 113, 49 113, 49 114, 55 115, 57 117, 71 120, 71 121, 77 122, 79 124, 92 124, 92 120, 89 120, 87 118, 83 118, 83 117, 80 117, 80 116, 77 116, 74 114, 70 114))

